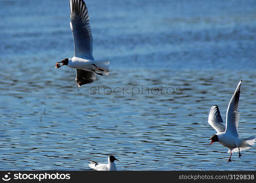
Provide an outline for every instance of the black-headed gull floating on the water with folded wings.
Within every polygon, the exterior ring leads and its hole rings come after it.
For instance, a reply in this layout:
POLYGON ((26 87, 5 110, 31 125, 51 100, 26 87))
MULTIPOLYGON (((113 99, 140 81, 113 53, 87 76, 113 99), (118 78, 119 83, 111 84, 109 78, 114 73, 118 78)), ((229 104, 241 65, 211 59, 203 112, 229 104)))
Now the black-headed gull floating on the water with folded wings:
MULTIPOLYGON (((89 159, 87 159, 89 160, 89 159)), ((117 160, 114 156, 110 155, 108 157, 108 164, 101 164, 98 163, 96 161, 90 161, 91 164, 89 164, 89 167, 91 167, 94 170, 97 171, 116 171, 116 164, 115 164, 115 160, 117 160)), ((117 160, 119 161, 119 160, 117 160)))

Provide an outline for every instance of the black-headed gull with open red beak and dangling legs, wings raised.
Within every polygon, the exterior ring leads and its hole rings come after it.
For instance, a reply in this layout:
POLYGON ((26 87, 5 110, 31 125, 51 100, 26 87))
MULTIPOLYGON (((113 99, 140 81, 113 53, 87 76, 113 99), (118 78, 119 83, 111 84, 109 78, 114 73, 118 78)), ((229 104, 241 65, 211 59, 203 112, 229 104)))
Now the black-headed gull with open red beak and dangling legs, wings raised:
MULTIPOLYGON (((242 156, 240 151, 249 149, 253 146, 256 140, 256 136, 240 139, 238 134, 238 102, 240 96, 240 86, 242 80, 238 83, 237 89, 228 104, 227 116, 226 116, 226 127, 222 124, 223 120, 220 115, 219 107, 213 105, 209 112, 208 123, 217 131, 217 134, 212 135, 209 140, 213 142, 219 142, 221 145, 228 147, 228 153, 230 157, 228 162, 231 162, 231 156, 234 152, 239 152, 239 158, 242 156)), ((227 162, 227 163, 228 163, 227 162)))

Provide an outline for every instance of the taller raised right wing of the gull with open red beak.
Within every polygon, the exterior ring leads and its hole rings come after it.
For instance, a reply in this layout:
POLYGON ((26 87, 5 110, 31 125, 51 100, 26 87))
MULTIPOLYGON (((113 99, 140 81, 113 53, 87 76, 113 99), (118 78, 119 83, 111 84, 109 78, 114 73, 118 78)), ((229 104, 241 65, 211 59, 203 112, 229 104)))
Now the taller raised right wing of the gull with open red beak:
POLYGON ((238 134, 238 121, 239 111, 238 102, 240 96, 240 87, 242 80, 238 83, 237 88, 228 104, 227 117, 226 117, 226 132, 232 134, 234 137, 239 137, 238 134))

